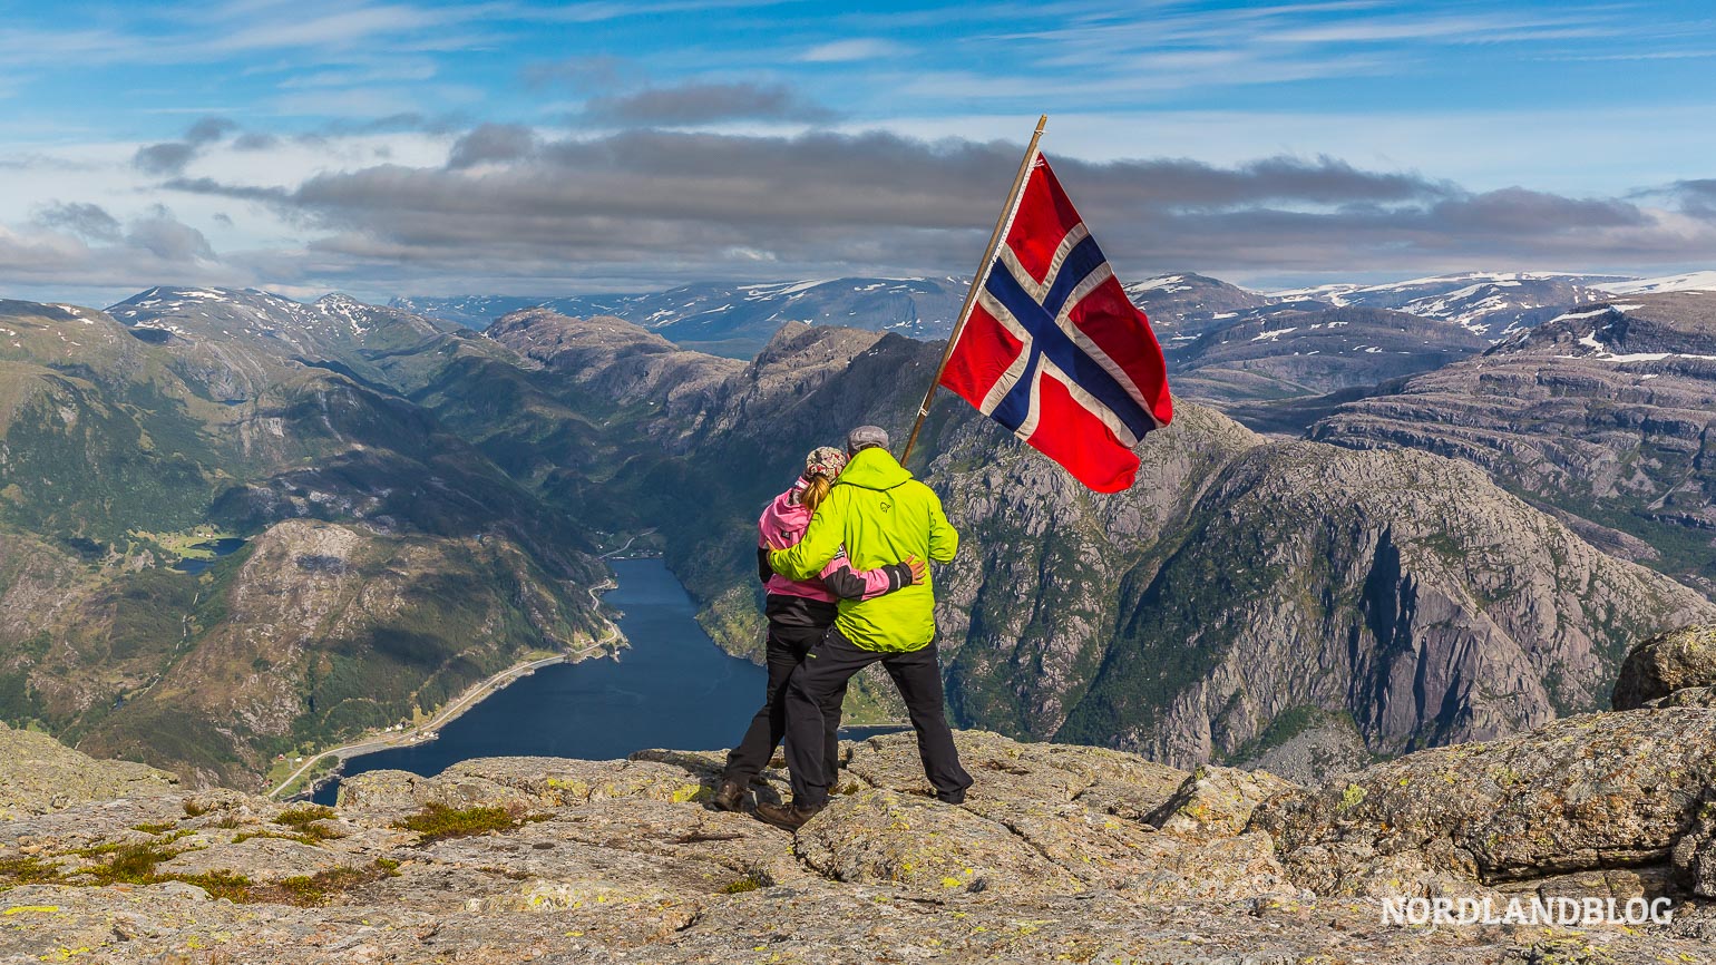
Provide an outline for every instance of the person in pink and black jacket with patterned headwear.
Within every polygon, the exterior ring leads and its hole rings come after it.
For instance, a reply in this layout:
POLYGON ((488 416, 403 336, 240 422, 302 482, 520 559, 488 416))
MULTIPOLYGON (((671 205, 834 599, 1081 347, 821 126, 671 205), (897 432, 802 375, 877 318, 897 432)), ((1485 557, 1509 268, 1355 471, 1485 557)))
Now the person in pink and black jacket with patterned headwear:
MULTIPOLYGON (((786 683, 810 647, 817 646, 834 625, 836 603, 843 598, 870 599, 923 580, 925 565, 916 558, 856 572, 846 555, 839 553, 812 580, 789 580, 769 567, 769 551, 788 549, 803 539, 810 517, 827 498, 843 469, 846 469, 844 452, 832 446, 812 450, 805 457, 803 476, 791 489, 776 496, 757 520, 757 577, 764 582, 767 594, 764 613, 769 616, 769 683, 762 709, 752 718, 738 747, 728 754, 728 766, 714 800, 721 810, 740 810, 745 805, 746 788, 769 764, 776 745, 786 735, 786 709, 781 706, 786 683)), ((844 697, 846 689, 841 687, 822 707, 822 719, 827 721, 824 757, 831 774, 839 764, 837 731, 844 697)))

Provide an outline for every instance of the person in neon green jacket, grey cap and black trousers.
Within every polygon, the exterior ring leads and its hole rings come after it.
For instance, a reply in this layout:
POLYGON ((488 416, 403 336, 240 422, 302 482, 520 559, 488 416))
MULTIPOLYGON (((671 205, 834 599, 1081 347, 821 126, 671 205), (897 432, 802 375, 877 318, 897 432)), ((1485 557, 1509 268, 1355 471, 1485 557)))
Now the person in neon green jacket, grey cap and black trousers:
MULTIPOLYGON (((947 522, 934 489, 918 482, 887 452, 887 433, 860 426, 846 436, 851 457, 817 507, 803 539, 769 553, 774 572, 789 580, 822 572, 841 548, 855 570, 901 563, 916 556, 946 563, 959 549, 959 532, 947 522)), ((935 651, 935 584, 915 582, 887 596, 841 599, 822 640, 805 654, 786 687, 786 764, 793 804, 758 804, 757 816, 796 831, 829 802, 834 774, 822 754, 822 707, 829 695, 872 663, 882 663, 899 689, 918 731, 923 773, 935 797, 964 800, 971 774, 959 764, 954 735, 942 709, 942 668, 935 651)))

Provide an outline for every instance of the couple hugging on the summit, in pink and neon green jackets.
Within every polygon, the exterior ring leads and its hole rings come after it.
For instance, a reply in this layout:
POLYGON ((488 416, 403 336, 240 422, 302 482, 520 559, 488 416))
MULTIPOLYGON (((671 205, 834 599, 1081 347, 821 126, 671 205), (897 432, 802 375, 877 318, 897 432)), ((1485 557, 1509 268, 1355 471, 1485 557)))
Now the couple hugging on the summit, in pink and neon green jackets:
POLYGON ((942 713, 935 594, 928 560, 954 558, 959 534, 935 493, 887 452, 887 433, 860 426, 846 452, 822 446, 805 474, 758 520, 757 575, 769 603, 769 683, 716 790, 740 810, 746 786, 786 738, 793 804, 758 804, 757 817, 796 831, 829 802, 839 768, 836 731, 846 682, 880 661, 918 731, 935 797, 959 804, 959 766, 942 713))

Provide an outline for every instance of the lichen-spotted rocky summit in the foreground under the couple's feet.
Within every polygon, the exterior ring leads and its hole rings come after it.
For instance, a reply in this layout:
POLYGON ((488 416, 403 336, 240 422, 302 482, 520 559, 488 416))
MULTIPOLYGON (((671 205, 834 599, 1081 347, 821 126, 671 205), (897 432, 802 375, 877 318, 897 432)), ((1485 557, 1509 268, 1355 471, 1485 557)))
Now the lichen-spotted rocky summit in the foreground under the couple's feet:
POLYGON ((372 771, 328 809, 0 731, 0 962, 1541 965, 1716 943, 1716 709, 1563 718, 1320 786, 956 738, 964 804, 934 800, 911 735, 873 737, 789 835, 705 804, 719 752, 372 771), (1414 898, 1673 920, 1383 917, 1414 898))

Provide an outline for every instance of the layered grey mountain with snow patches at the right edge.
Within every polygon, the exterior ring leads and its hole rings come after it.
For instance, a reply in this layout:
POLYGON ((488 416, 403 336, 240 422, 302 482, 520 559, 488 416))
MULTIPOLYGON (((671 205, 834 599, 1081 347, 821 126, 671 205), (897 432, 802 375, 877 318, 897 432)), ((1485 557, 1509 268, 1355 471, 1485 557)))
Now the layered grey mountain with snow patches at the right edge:
POLYGON ((1311 434, 1471 460, 1604 549, 1713 592, 1713 412, 1716 295, 1680 292, 1563 313, 1311 434))

